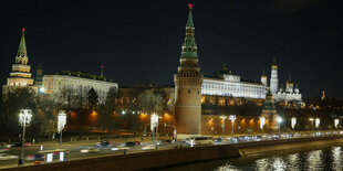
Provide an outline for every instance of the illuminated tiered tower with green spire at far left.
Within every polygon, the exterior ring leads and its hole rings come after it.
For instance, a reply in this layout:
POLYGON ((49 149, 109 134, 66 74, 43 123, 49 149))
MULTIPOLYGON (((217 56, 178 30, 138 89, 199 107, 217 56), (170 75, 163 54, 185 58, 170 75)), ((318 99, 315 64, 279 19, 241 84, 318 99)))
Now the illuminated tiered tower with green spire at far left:
POLYGON ((28 65, 29 55, 27 52, 24 31, 25 29, 23 28, 18 53, 15 55, 15 63, 12 65, 10 77, 7 78, 7 85, 2 87, 3 94, 18 87, 31 87, 37 92, 37 87, 33 86, 33 78, 31 78, 31 66, 28 65))

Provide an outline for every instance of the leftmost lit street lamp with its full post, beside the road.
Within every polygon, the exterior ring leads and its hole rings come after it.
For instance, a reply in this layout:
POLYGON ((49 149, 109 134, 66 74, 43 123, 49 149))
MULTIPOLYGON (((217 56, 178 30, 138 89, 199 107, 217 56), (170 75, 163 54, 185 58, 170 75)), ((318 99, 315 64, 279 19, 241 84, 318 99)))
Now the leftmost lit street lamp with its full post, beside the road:
POLYGON ((22 126, 22 137, 21 137, 21 154, 19 157, 18 165, 24 165, 24 142, 25 142, 25 129, 27 125, 31 122, 32 118, 31 109, 20 109, 19 113, 19 124, 22 126))

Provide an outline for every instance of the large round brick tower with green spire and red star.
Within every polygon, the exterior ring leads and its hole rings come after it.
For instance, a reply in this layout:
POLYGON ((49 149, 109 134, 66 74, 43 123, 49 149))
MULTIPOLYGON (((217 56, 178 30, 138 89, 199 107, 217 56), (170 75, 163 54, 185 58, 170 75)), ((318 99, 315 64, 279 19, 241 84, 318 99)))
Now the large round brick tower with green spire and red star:
POLYGON ((186 38, 181 46, 180 65, 174 75, 175 124, 178 137, 201 135, 201 85, 204 75, 198 65, 195 28, 189 3, 186 38))

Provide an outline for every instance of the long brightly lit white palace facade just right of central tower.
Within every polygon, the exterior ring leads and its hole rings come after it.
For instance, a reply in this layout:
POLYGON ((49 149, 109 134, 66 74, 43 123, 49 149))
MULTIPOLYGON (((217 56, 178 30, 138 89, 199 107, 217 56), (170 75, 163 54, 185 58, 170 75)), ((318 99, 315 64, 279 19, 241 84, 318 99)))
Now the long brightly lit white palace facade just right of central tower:
POLYGON ((214 75, 205 75, 202 95, 229 96, 242 98, 266 98, 266 86, 260 82, 241 79, 224 64, 214 75))

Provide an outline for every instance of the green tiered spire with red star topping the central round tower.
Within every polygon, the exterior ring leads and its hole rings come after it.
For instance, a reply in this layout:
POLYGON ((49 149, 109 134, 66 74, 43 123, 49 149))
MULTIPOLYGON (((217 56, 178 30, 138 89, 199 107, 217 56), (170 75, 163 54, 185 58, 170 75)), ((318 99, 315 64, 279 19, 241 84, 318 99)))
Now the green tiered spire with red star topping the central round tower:
POLYGON ((196 44, 195 36, 194 36, 195 28, 194 28, 193 17, 191 17, 193 4, 189 3, 188 8, 189 8, 189 14, 188 14, 187 23, 186 23, 186 38, 185 38, 185 43, 183 44, 181 58, 198 60, 197 44, 196 44))

